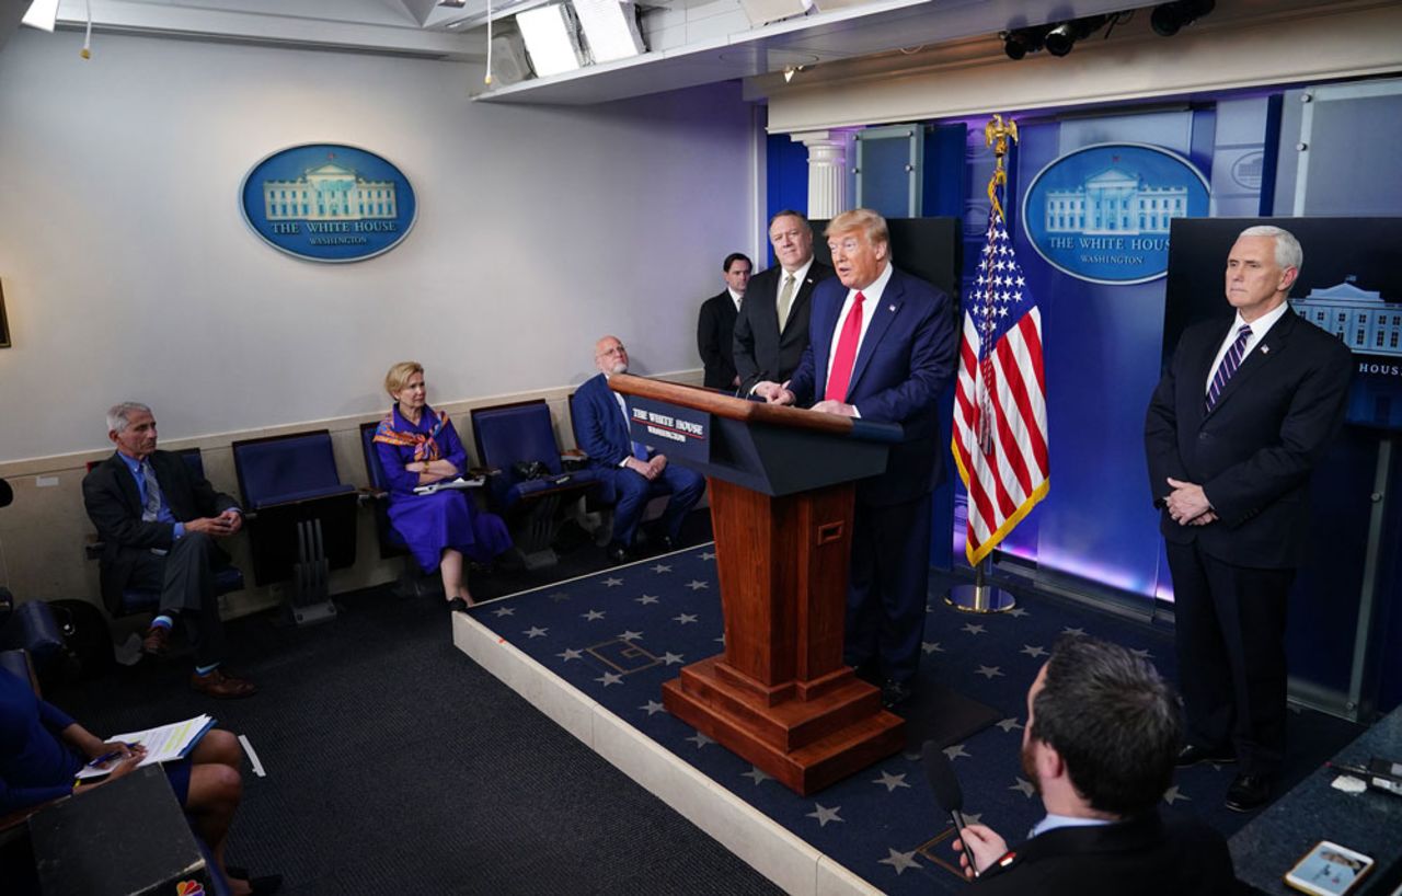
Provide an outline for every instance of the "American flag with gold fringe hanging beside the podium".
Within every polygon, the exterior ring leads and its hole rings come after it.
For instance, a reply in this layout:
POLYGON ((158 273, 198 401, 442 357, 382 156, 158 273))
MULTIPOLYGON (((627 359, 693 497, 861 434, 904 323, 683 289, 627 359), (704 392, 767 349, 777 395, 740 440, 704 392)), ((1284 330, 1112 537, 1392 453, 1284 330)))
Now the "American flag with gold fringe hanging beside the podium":
POLYGON ((953 454, 969 489, 965 554, 977 566, 1050 487, 1042 314, 1022 276, 998 202, 965 297, 953 454))

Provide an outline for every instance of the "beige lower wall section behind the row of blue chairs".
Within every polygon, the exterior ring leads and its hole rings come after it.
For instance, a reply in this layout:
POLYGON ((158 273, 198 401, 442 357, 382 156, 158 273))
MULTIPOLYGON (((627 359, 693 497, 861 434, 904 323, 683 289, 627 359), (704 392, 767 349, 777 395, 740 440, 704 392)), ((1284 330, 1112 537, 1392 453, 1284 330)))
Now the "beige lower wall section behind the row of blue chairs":
MULTIPOLYGON (((700 370, 683 370, 663 374, 683 383, 701 383, 700 370)), ((575 439, 569 422, 569 395, 578 384, 515 393, 506 395, 485 395, 465 401, 437 402, 436 408, 447 411, 453 418, 468 454, 475 460, 472 447, 471 408, 544 398, 550 404, 555 425, 555 437, 562 447, 573 447, 575 439)), ((160 408, 156 408, 160 411, 160 408)), ((342 482, 366 487, 369 477, 365 470, 365 454, 360 450, 360 423, 380 419, 384 411, 332 419, 304 421, 289 426, 250 429, 243 432, 217 433, 198 439, 163 440, 163 449, 198 447, 205 460, 205 474, 219 491, 238 496, 238 480, 234 475, 234 461, 230 444, 240 439, 276 436, 306 429, 328 429, 335 447, 336 470, 342 482)), ((93 523, 83 510, 83 477, 87 463, 102 460, 109 450, 81 452, 55 457, 39 457, 14 463, 0 463, 0 478, 14 488, 14 503, 0 510, 0 582, 6 583, 15 597, 25 600, 83 599, 101 604, 98 592, 97 561, 84 557, 84 545, 93 537, 93 523)), ((380 559, 376 541, 374 519, 370 509, 358 513, 356 564, 348 569, 331 572, 331 592, 342 593, 367 588, 398 578, 402 559, 380 559)), ((248 536, 241 533, 226 547, 234 557, 234 564, 244 572, 248 588, 227 595, 226 616, 243 616, 275 606, 290 583, 254 586, 254 566, 248 554, 248 536)))

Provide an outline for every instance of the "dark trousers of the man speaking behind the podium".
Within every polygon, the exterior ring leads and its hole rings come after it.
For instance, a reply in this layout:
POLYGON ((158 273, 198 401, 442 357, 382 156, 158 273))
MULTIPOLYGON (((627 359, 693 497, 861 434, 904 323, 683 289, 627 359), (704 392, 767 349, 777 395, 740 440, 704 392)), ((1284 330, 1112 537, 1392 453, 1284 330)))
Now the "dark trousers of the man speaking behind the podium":
POLYGON ((843 660, 854 667, 879 665, 882 677, 907 687, 925 637, 930 508, 930 495, 887 506, 858 501, 852 515, 843 660))

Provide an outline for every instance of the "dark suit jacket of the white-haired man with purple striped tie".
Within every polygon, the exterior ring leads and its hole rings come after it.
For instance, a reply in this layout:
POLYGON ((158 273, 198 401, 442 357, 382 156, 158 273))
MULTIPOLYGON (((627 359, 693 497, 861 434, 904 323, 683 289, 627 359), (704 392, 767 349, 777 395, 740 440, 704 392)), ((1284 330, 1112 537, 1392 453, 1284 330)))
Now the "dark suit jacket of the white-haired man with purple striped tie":
POLYGON ((1309 526, 1309 471, 1343 419, 1352 355, 1339 339, 1287 311, 1204 412, 1207 373, 1234 318, 1183 332, 1154 390, 1144 423, 1150 489, 1157 506, 1168 477, 1203 487, 1220 517, 1179 526, 1210 557, 1252 568, 1295 566, 1309 526))

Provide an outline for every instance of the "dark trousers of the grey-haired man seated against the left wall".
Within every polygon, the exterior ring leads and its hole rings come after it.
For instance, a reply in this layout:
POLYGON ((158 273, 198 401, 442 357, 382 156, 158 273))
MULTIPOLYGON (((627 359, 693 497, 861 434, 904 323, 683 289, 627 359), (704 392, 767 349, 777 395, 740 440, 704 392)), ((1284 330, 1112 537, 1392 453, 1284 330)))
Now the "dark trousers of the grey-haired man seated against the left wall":
POLYGON ((224 658, 224 621, 219 617, 212 566, 213 540, 199 531, 177 538, 164 557, 146 551, 129 579, 130 588, 161 593, 161 613, 181 620, 195 663, 209 666, 224 658))

